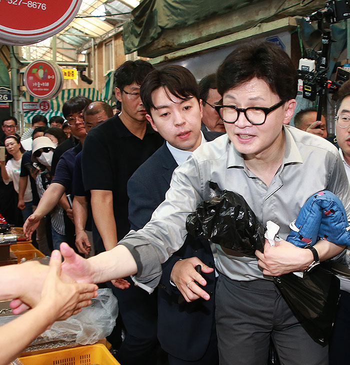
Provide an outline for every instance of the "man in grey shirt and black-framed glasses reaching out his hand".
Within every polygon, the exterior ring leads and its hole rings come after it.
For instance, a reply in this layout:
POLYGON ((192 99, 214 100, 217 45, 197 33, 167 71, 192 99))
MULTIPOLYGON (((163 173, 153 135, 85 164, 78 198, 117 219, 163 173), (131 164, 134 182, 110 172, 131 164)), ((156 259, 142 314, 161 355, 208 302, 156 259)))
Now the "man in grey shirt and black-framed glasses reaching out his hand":
MULTIPOLYGON (((350 215, 350 187, 343 183, 340 155, 324 139, 287 125, 296 105, 297 73, 277 45, 250 42, 237 47, 216 76, 222 105, 231 111, 222 114, 227 134, 199 146, 174 171, 164 202, 144 228, 88 260, 74 257, 63 245, 63 269, 90 281, 136 274, 136 281, 156 287, 161 263, 184 242, 186 217, 212 196, 208 182, 216 182, 220 189, 243 196, 263 225, 268 220, 277 223, 282 238, 273 247, 266 241, 264 253, 256 251, 256 257, 217 246, 220 364, 264 365, 272 339, 283 365, 326 365, 327 346, 306 333, 270 277, 303 271, 342 250, 320 240, 313 246, 316 255, 285 241, 290 222, 317 191, 336 194, 350 215)), ((198 279, 194 274, 188 278, 184 294, 207 300, 207 293, 192 283, 198 279)))

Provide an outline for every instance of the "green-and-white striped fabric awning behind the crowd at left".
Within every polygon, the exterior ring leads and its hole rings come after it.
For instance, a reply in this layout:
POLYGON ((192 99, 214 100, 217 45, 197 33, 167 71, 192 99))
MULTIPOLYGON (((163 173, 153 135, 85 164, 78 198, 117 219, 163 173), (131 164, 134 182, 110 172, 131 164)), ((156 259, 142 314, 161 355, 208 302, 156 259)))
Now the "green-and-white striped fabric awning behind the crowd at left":
MULTIPOLYGON (((101 100, 101 101, 104 101, 104 102, 110 104, 110 100, 108 101, 107 99, 105 99, 103 97, 102 93, 100 93, 98 90, 96 90, 94 88, 62 89, 55 98, 48 100, 48 102, 51 105, 50 111, 48 111, 48 112, 41 112, 39 110, 24 111, 24 122, 31 123, 32 117, 36 114, 44 115, 47 118, 47 121, 51 117, 56 116, 56 115, 63 117, 62 112, 61 112, 63 104, 68 99, 70 99, 74 96, 78 96, 78 95, 85 96, 86 98, 89 98, 92 101, 101 100)), ((36 99, 36 98, 32 97, 31 95, 29 95, 29 93, 25 93, 25 92, 24 92, 23 98, 25 99, 25 101, 32 102, 32 103, 36 103, 39 101, 39 99, 36 99)))

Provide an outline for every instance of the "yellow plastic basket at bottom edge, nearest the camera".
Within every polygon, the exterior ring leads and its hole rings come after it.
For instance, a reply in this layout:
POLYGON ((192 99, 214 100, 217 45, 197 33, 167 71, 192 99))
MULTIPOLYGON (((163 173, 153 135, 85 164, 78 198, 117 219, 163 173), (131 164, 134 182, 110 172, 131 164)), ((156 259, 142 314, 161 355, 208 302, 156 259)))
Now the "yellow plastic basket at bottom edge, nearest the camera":
POLYGON ((19 359, 24 365, 120 365, 100 343, 24 356, 19 359))

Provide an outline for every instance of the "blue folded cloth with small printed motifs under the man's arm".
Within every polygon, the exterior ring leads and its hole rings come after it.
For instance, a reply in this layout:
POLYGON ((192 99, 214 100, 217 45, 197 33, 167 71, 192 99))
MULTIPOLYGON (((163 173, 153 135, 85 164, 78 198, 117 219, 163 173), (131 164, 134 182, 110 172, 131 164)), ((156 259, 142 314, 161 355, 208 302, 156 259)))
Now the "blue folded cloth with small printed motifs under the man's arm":
POLYGON ((328 190, 306 200, 286 241, 297 247, 313 246, 325 239, 340 246, 350 246, 350 226, 340 199, 328 190))

